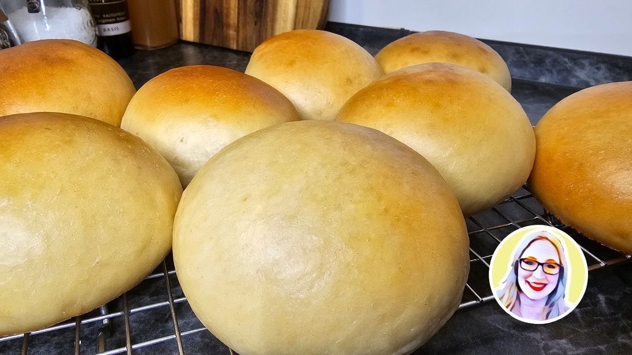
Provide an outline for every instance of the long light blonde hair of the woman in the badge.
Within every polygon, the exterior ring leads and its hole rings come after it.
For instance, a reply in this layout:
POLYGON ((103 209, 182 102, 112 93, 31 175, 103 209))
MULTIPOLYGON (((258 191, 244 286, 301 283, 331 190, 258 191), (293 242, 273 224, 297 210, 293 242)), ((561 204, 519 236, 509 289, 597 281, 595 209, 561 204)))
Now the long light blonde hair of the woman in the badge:
POLYGON ((549 296, 547 296, 547 302, 544 305, 543 316, 544 319, 549 320, 563 315, 569 309, 568 304, 566 304, 566 301, 564 300, 564 296, 566 296, 566 281, 568 280, 568 265, 566 263, 566 258, 564 257, 564 247, 559 239, 549 232, 534 232, 526 236, 522 241, 516 250, 516 254, 514 255, 512 270, 509 272, 509 275, 507 275, 507 279, 505 279, 501 284, 499 299, 509 311, 512 311, 514 308, 520 306, 520 298, 518 298, 518 291, 520 289, 520 285, 518 284, 520 257, 523 255, 526 248, 538 240, 548 241, 554 246, 554 248, 556 248, 557 256, 559 256, 559 263, 562 265, 558 274, 559 277, 557 279, 557 285, 549 296))

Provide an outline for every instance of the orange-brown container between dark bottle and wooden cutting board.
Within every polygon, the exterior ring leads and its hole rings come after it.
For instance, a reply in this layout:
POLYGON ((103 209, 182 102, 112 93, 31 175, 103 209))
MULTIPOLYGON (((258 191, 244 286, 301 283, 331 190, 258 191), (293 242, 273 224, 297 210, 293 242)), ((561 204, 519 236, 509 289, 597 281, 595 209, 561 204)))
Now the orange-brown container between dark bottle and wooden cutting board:
POLYGON ((178 42, 176 0, 128 0, 131 35, 138 49, 160 49, 178 42))

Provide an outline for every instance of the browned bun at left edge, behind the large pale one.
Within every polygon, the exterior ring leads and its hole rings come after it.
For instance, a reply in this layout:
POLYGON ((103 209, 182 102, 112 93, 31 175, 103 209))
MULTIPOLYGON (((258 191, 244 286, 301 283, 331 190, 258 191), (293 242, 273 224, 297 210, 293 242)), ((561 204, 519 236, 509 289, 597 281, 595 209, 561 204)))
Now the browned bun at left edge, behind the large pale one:
POLYGON ((0 51, 0 116, 63 112, 119 126, 135 91, 114 59, 76 40, 37 40, 0 51))

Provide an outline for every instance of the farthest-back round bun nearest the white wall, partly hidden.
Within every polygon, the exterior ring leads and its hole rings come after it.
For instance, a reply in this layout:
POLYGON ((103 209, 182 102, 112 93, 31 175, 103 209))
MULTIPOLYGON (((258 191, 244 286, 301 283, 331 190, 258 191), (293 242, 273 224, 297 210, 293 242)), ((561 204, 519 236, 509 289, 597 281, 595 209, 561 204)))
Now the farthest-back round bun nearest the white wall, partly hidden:
POLYGON ((458 64, 489 76, 511 91, 511 75, 502 57, 489 45, 460 33, 413 33, 384 47, 375 59, 384 73, 423 63, 458 64))

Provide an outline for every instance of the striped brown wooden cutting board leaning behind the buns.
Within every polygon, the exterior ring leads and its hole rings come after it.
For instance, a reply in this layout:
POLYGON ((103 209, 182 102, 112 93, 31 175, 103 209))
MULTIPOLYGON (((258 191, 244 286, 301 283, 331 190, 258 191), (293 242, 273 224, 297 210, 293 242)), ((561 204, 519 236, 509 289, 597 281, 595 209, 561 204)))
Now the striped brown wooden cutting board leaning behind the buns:
POLYGON ((329 0, 180 0, 180 38, 239 51, 298 28, 320 29, 329 0))

